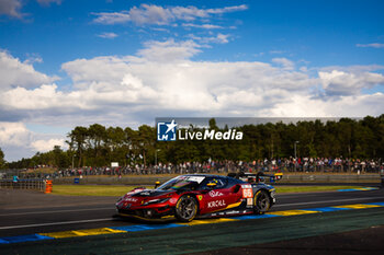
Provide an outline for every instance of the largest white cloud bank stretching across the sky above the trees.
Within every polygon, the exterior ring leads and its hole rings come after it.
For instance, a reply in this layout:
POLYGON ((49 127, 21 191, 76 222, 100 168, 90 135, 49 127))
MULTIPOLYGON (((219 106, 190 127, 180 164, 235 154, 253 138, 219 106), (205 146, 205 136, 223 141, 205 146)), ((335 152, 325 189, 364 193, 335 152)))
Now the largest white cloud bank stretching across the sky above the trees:
MULTIPOLYGON (((292 93, 326 104, 323 98, 314 98, 314 88, 321 86, 327 95, 348 97, 361 95, 361 89, 383 82, 383 76, 373 72, 334 70, 310 77, 306 71, 295 71, 294 63, 282 58, 273 59, 282 67, 264 62, 191 61, 200 50, 193 42, 170 39, 149 42, 146 46, 136 57, 66 62, 63 70, 74 81, 72 91, 59 91, 55 84, 42 84, 33 90, 10 89, 0 94, 0 107, 4 113, 16 113, 20 118, 49 119, 52 124, 63 118, 78 119, 76 124, 81 124, 94 121, 94 117, 102 123, 120 121, 116 119, 124 118, 128 112, 131 117, 139 114, 140 119, 163 111, 211 116, 238 111, 257 115, 279 112, 280 105, 286 104, 305 111, 292 93)), ((348 115, 348 109, 345 111, 348 115)), ((324 109, 324 114, 330 113, 324 109)))

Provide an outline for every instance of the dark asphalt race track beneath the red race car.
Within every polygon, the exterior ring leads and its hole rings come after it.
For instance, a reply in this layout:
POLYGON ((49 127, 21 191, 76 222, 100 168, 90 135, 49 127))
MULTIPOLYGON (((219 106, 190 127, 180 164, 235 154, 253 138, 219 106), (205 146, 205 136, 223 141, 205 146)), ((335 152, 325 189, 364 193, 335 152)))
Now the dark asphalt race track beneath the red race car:
POLYGON ((77 233, 72 237, 3 243, 0 254, 304 254, 308 251, 382 254, 384 251, 384 189, 278 195, 278 204, 266 218, 196 220, 184 228, 170 228, 181 227, 176 221, 149 225, 113 218, 115 200, 0 189, 0 243, 1 237, 9 236, 77 233), (334 207, 338 206, 341 209, 336 210, 334 207), (149 228, 132 231, 143 224, 149 228), (165 225, 167 229, 161 229, 165 225), (100 228, 112 228, 116 233, 81 232, 100 228), (129 232, 120 232, 124 228, 129 232))

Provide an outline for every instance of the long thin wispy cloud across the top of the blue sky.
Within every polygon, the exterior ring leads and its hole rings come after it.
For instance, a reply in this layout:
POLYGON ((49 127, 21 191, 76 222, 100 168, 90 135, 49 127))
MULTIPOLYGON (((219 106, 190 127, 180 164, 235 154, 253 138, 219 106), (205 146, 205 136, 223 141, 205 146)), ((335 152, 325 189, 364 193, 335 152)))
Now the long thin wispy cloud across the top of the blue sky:
POLYGON ((131 8, 129 11, 92 14, 97 16, 93 22, 106 25, 127 22, 133 22, 137 25, 166 25, 178 20, 191 22, 196 19, 208 19, 212 14, 224 14, 247 9, 248 7, 245 4, 217 9, 199 9, 196 7, 163 8, 155 4, 142 4, 140 7, 131 8))

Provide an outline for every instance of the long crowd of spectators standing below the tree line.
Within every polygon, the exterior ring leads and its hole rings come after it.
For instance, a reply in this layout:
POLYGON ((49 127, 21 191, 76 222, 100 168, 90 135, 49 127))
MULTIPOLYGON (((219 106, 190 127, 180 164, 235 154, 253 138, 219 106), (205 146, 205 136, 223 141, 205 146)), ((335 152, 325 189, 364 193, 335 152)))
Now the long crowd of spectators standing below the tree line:
POLYGON ((264 159, 252 162, 244 161, 211 161, 184 162, 180 164, 159 163, 145 166, 135 164, 122 167, 77 167, 57 171, 54 176, 87 176, 87 175, 148 175, 148 174, 187 174, 187 173, 227 173, 236 171, 245 172, 301 172, 301 173, 380 173, 384 162, 379 160, 355 160, 343 158, 289 158, 289 159, 264 159))

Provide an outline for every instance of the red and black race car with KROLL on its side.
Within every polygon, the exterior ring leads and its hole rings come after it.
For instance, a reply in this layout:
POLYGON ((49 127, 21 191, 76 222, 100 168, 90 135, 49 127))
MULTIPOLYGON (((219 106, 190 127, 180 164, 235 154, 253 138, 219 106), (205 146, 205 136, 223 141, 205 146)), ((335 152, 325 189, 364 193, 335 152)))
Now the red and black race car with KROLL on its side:
POLYGON ((176 217, 179 221, 264 213, 275 204, 275 189, 236 177, 188 174, 155 189, 135 188, 116 202, 117 213, 140 219, 176 217))

